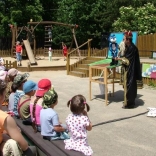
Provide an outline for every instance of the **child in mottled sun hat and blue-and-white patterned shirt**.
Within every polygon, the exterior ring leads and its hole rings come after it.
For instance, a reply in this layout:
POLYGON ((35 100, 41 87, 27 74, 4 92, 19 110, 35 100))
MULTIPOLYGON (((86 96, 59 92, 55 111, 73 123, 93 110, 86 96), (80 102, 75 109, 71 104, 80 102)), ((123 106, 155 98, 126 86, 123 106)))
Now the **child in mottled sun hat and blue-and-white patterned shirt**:
POLYGON ((19 118, 18 114, 18 101, 19 99, 25 94, 23 92, 23 84, 27 81, 27 78, 29 77, 28 73, 25 74, 18 74, 13 81, 13 84, 17 86, 17 90, 14 95, 14 115, 19 118))

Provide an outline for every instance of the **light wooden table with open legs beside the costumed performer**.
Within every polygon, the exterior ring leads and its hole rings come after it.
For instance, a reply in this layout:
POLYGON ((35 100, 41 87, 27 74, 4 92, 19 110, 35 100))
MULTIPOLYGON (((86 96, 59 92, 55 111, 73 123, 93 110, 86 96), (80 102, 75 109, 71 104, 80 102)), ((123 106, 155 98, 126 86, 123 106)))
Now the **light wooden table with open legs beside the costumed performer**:
POLYGON ((106 105, 108 105, 108 87, 107 87, 107 85, 112 84, 112 93, 114 96, 114 83, 119 82, 119 81, 115 81, 115 68, 116 68, 116 66, 109 66, 108 64, 101 64, 101 65, 89 67, 89 98, 90 98, 90 101, 91 101, 91 94, 92 94, 91 83, 95 82, 95 83, 105 85, 105 103, 106 103, 106 105), (93 69, 100 69, 101 71, 103 71, 103 77, 101 77, 101 78, 104 78, 103 82, 99 80, 100 77, 98 79, 93 78, 93 73, 92 73, 93 69), (112 69, 112 71, 113 71, 111 79, 108 78, 108 69, 112 69))

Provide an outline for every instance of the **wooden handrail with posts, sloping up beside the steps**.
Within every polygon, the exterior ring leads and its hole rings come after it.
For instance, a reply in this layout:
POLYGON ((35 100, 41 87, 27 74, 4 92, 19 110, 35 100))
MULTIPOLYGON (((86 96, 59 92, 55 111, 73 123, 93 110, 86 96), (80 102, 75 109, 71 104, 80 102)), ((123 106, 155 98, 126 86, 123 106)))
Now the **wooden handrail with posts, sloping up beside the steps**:
MULTIPOLYGON (((87 42, 85 42, 84 44, 80 45, 79 47, 77 47, 76 49, 70 51, 67 55, 67 75, 69 75, 69 72, 71 71, 70 68, 70 57, 71 55, 77 51, 79 48, 85 46, 86 44, 88 44, 88 56, 91 56, 91 41, 92 39, 89 39, 87 42)), ((79 58, 79 61, 82 59, 82 57, 79 58)))

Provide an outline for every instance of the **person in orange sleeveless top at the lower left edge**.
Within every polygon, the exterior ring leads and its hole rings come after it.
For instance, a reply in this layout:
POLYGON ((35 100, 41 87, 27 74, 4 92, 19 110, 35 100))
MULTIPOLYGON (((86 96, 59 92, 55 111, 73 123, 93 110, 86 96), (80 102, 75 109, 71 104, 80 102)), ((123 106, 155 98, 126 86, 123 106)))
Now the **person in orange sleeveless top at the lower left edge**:
MULTIPOLYGON (((0 80, 0 108, 5 99, 6 82, 0 80)), ((28 146, 14 118, 0 109, 0 155, 36 156, 35 146, 28 146), (22 150, 22 151, 21 151, 22 150)))

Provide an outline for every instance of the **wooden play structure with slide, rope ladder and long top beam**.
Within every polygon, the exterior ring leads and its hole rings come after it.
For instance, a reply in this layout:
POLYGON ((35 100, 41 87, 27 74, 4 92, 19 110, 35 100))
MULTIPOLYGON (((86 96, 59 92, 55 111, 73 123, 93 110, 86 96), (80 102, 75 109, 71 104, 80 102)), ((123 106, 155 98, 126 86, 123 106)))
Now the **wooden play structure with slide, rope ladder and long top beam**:
POLYGON ((75 35, 75 29, 78 27, 78 25, 70 25, 70 24, 65 24, 65 23, 60 23, 60 22, 53 22, 53 21, 40 21, 40 22, 28 22, 28 25, 30 28, 23 26, 23 27, 17 27, 17 26, 10 26, 11 32, 12 32, 12 48, 11 48, 11 53, 12 55, 15 53, 15 43, 21 34, 22 31, 26 31, 26 39, 23 39, 23 44, 26 47, 27 55, 30 60, 30 64, 34 65, 36 64, 35 57, 36 57, 36 39, 35 39, 35 28, 38 25, 44 25, 45 26, 45 40, 44 40, 44 54, 48 52, 48 48, 51 47, 51 42, 52 40, 49 40, 48 37, 48 29, 52 29, 52 25, 60 25, 64 27, 69 27, 72 32, 72 42, 69 48, 72 48, 73 41, 75 42, 75 45, 77 47, 77 52, 79 57, 81 57, 79 48, 78 48, 78 43, 76 40, 76 35, 75 35), (29 48, 28 48, 29 47, 29 48), (32 49, 31 49, 32 48, 32 49))

